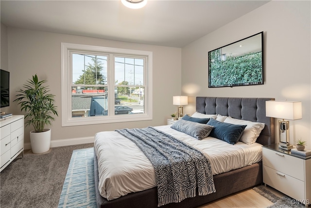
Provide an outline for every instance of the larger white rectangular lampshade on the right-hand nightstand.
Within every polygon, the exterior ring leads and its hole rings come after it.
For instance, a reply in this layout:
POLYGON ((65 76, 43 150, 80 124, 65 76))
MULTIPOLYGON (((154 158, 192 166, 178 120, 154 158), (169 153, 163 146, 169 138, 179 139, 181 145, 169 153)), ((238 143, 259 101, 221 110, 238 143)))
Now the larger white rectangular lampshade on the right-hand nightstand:
POLYGON ((302 118, 300 101, 266 101, 266 116, 296 120, 302 118))

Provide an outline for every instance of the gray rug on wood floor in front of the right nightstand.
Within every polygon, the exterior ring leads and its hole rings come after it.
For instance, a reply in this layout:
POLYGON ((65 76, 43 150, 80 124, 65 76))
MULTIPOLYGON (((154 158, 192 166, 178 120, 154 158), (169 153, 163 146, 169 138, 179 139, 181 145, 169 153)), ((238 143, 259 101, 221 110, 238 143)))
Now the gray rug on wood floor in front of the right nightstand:
POLYGON ((254 187, 253 190, 258 192, 261 196, 270 200, 274 204, 268 208, 304 208, 305 205, 297 202, 288 196, 278 197, 270 190, 266 189, 265 186, 254 187))

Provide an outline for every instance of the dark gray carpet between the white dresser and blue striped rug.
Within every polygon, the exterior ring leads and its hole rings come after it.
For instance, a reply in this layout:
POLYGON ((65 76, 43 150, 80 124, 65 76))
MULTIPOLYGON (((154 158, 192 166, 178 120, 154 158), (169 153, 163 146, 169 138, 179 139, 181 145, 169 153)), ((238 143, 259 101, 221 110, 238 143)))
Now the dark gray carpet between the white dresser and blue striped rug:
POLYGON ((1 208, 57 208, 72 151, 91 144, 51 148, 18 156, 0 174, 1 208))

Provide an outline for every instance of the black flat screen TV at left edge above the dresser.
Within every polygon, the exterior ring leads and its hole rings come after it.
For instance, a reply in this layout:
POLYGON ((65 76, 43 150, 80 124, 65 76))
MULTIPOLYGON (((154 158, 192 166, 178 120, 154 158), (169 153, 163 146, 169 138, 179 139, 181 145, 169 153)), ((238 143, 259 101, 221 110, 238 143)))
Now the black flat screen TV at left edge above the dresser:
POLYGON ((0 108, 10 105, 10 72, 0 70, 0 108))

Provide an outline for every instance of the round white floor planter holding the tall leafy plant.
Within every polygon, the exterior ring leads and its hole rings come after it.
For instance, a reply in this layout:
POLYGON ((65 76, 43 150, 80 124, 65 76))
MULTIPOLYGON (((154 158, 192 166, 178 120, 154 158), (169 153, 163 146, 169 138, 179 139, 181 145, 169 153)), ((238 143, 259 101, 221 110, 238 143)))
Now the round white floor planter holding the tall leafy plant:
POLYGON ((51 129, 44 129, 44 132, 30 132, 30 143, 33 153, 43 153, 50 150, 51 145, 51 129))

